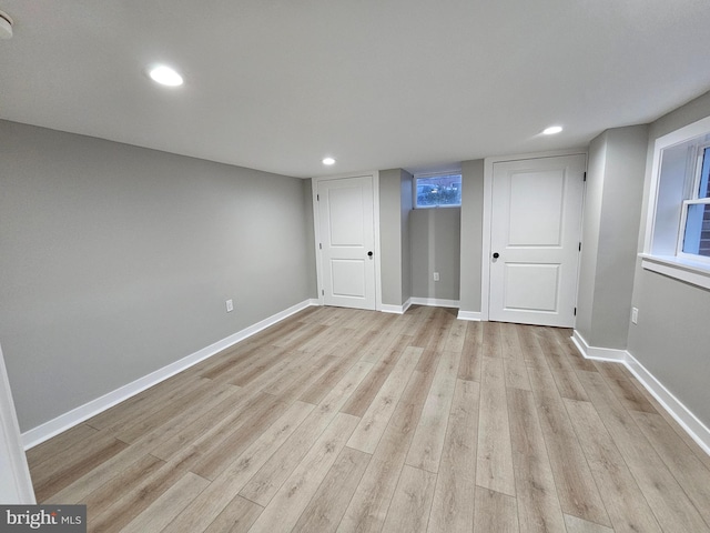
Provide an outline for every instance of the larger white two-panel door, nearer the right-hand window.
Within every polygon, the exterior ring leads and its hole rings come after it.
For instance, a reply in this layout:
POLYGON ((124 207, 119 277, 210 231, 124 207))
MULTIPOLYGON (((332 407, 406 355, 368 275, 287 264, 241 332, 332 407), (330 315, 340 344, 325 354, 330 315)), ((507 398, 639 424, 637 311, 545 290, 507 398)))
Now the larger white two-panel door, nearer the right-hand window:
POLYGON ((494 163, 489 319, 575 325, 585 155, 494 163))

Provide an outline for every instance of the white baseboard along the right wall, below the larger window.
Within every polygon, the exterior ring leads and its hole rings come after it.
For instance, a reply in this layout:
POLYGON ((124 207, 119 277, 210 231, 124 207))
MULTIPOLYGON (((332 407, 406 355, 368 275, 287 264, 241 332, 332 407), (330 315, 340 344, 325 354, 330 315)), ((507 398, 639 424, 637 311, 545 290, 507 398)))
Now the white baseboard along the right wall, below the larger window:
POLYGON ((590 346, 577 330, 575 330, 572 334, 572 342, 585 359, 621 363, 629 369, 636 379, 639 380, 639 383, 641 383, 676 422, 686 430, 686 433, 710 455, 710 429, 627 350, 590 346))

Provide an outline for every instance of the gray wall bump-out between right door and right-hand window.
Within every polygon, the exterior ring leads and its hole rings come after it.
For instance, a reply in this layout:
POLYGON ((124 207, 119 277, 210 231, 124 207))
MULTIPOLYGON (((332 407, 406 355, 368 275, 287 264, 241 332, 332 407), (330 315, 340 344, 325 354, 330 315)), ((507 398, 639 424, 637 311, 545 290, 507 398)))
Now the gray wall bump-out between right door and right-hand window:
POLYGON ((576 329, 592 346, 627 345, 647 147, 646 125, 589 147, 576 329))

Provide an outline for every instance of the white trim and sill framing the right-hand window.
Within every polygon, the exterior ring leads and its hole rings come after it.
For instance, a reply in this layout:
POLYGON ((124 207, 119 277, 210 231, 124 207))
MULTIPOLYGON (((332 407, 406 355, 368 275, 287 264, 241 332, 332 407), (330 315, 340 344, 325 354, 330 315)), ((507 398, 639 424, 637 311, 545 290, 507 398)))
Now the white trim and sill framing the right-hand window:
MULTIPOLYGON (((656 230, 656 209, 660 188, 661 153, 665 149, 693 138, 710 133, 710 117, 698 120, 679 130, 659 137, 653 144, 653 164, 650 174, 650 193, 646 219, 646 234, 643 238, 643 251, 639 253, 641 268, 657 272, 697 286, 710 289, 710 261, 706 258, 682 252, 682 239, 684 232, 684 220, 680 225, 677 240, 676 255, 660 255, 652 253, 653 232, 656 230)), ((706 203, 704 201, 686 200, 684 203, 706 203)), ((684 213, 684 210, 683 210, 684 213)), ((683 214, 684 218, 684 214, 683 214)))

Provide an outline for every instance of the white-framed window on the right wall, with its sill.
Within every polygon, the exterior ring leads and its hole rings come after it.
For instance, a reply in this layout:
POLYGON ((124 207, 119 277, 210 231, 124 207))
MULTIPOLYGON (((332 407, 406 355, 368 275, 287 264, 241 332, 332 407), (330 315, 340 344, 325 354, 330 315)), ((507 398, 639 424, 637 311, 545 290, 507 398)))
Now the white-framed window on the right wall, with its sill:
POLYGON ((642 266, 710 289, 710 117, 656 141, 642 266))

